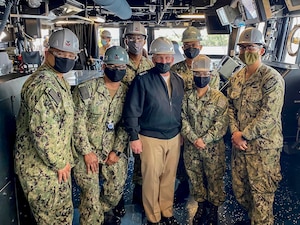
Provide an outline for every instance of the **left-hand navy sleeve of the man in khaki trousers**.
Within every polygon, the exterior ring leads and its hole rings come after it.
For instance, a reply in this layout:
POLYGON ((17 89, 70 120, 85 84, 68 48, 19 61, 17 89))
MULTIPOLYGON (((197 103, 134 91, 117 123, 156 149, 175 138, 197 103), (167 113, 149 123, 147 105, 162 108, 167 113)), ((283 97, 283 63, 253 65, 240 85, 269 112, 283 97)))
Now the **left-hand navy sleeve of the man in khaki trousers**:
POLYGON ((130 85, 123 111, 125 129, 129 135, 130 141, 139 139, 139 118, 141 117, 144 108, 145 88, 139 76, 140 75, 136 76, 130 85))

